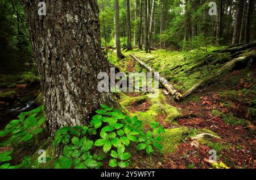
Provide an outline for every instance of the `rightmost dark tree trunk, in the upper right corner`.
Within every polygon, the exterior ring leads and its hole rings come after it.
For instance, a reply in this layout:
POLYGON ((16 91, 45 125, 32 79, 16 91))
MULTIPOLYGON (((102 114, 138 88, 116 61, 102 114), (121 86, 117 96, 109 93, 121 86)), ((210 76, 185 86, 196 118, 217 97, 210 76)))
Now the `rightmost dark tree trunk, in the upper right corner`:
POLYGON ((250 25, 254 2, 255 0, 249 0, 248 2, 248 8, 245 16, 245 43, 250 43, 250 25))

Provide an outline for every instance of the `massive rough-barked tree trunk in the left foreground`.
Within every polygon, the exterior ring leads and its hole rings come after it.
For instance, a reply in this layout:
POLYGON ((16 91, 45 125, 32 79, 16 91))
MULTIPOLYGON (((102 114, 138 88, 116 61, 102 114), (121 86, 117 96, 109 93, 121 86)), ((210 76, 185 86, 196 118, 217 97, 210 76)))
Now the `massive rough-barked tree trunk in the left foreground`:
POLYGON ((89 124, 101 104, 114 104, 112 94, 97 89, 98 73, 110 71, 100 47, 97 1, 47 1, 46 16, 35 10, 39 0, 23 3, 50 135, 65 125, 89 124))

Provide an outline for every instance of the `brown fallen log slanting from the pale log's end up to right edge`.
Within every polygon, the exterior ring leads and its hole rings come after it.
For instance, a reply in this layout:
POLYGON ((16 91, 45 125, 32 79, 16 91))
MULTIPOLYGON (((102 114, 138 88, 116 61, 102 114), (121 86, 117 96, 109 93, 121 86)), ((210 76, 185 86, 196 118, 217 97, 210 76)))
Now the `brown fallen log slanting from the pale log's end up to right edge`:
POLYGON ((256 57, 256 50, 253 50, 249 53, 247 53, 245 56, 234 58, 233 60, 227 62, 222 68, 220 68, 216 73, 212 74, 212 76, 209 76, 203 80, 201 80, 199 83, 197 83, 195 86, 191 87, 191 89, 187 90, 183 94, 183 98, 187 97, 189 94, 193 93, 197 88, 200 86, 204 85, 204 83, 219 77, 222 73, 226 72, 226 70, 229 70, 233 68, 234 65, 236 65, 238 62, 246 61, 246 60, 251 60, 256 57))

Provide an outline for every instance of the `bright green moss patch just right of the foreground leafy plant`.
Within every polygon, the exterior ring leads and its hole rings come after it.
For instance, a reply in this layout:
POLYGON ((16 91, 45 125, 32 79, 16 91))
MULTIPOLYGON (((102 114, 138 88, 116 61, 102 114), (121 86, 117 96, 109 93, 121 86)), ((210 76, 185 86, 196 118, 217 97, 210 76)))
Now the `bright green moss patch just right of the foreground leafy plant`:
POLYGON ((173 153, 177 146, 188 135, 189 129, 187 127, 179 127, 173 129, 166 129, 166 133, 162 135, 161 144, 163 146, 163 153, 173 153))

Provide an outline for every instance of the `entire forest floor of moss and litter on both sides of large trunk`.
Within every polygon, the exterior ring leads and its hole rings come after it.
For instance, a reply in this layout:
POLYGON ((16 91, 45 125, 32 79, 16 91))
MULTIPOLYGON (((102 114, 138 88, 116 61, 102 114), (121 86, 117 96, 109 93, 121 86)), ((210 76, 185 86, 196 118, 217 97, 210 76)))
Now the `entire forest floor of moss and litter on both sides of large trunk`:
MULTIPOLYGON (((122 60, 117 60, 114 51, 109 54, 109 61, 121 72, 147 72, 130 57, 135 55, 183 92, 224 64, 221 60, 213 61, 208 70, 207 65, 197 66, 199 61, 186 58, 185 53, 162 49, 151 54, 138 49, 123 53, 126 58, 122 60)), ((163 150, 148 156, 132 149, 130 168, 256 168, 255 69, 255 62, 249 69, 238 65, 181 102, 175 102, 162 86, 156 96, 119 93, 119 102, 128 115, 138 116, 145 129, 154 121, 166 129, 162 135, 163 150), (202 134, 204 136, 200 137, 202 134), (211 149, 217 152, 217 164, 209 161, 211 149)), ((0 120, 7 109, 26 105, 31 99, 36 101, 40 93, 38 77, 30 72, 22 74, 17 75, 19 79, 0 77, 0 120)), ((1 129, 6 123, 1 120, 1 129)), ((29 148, 24 149, 20 154, 33 153, 29 148)), ((9 149, 0 148, 0 152, 6 150, 9 149)), ((14 161, 21 161, 21 158, 14 161)))

